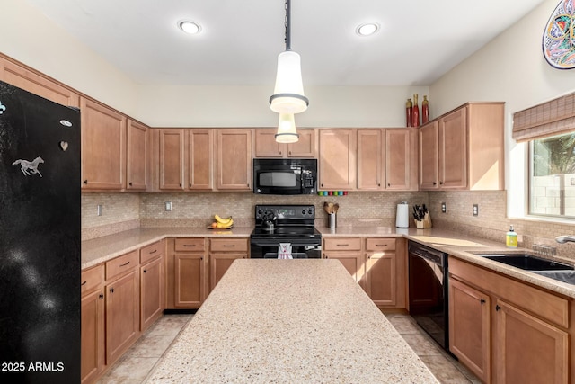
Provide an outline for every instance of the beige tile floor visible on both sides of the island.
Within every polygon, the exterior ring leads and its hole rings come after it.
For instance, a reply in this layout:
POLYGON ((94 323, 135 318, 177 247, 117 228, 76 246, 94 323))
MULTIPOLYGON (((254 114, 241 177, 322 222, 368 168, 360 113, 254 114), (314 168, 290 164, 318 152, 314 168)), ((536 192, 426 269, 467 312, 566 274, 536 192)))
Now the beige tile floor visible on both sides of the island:
MULTIPOLYGON (((463 365, 441 350, 437 344, 420 329, 415 321, 406 315, 386 314, 403 339, 429 367, 429 370, 445 384, 481 383, 463 365)), ((180 333, 193 315, 164 315, 151 326, 127 353, 119 358, 97 384, 140 384, 146 380, 155 364, 160 360, 173 339, 180 333)))

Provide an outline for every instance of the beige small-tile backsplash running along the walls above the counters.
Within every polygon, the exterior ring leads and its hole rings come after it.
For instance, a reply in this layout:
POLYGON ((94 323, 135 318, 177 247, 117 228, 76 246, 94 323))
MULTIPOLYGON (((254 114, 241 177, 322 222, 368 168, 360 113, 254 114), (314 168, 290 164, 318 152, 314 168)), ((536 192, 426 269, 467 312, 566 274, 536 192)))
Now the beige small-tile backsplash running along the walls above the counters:
POLYGON ((250 192, 84 192, 83 239, 138 227, 200 227, 208 225, 216 213, 223 217, 233 216, 237 226, 252 226, 253 207, 256 204, 314 204, 316 225, 323 226, 326 220, 324 201, 340 204, 338 226, 394 227, 396 205, 408 201, 410 206, 426 204, 435 228, 453 229, 504 244, 509 225, 513 224, 519 236, 519 246, 556 246, 558 255, 575 259, 575 244, 560 245, 554 241, 557 236, 575 234, 575 224, 509 219, 505 191, 349 192, 347 196, 271 196, 250 192), (165 210, 166 201, 172 202, 171 211, 165 210), (441 212, 442 202, 447 205, 446 213, 441 212), (102 216, 97 216, 98 204, 102 204, 102 216), (479 207, 477 216, 473 216, 473 204, 479 207))

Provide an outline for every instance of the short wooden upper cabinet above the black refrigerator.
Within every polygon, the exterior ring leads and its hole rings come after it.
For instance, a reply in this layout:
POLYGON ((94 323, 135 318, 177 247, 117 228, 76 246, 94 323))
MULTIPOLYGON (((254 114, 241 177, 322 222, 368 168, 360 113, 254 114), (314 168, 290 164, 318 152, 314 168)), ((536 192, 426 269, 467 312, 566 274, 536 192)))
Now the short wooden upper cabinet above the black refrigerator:
POLYGON ((20 66, 0 56, 0 80, 15 85, 32 94, 38 94, 54 103, 80 106, 80 97, 64 85, 31 69, 20 66))

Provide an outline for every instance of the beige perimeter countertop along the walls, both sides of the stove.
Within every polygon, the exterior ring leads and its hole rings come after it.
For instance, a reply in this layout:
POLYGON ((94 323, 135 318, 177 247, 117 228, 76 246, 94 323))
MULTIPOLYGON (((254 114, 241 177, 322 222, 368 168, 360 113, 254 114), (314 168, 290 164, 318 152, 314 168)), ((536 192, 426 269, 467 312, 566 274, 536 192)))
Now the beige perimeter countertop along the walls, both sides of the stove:
MULTIPOLYGON (((402 229, 376 226, 339 226, 338 228, 316 227, 322 237, 406 237, 423 245, 431 246, 462 260, 480 265, 495 272, 504 273, 520 281, 527 281, 538 287, 560 293, 575 299, 575 285, 540 276, 497 263, 474 253, 517 252, 536 255, 530 249, 510 250, 503 244, 481 237, 462 236, 453 231, 438 228, 402 229)), ((139 228, 120 232, 107 237, 98 237, 82 242, 82 269, 103 263, 119 255, 124 255, 139 247, 152 244, 165 237, 249 237, 252 227, 238 227, 231 230, 206 228, 139 228)), ((538 255, 540 257, 546 257, 538 255)), ((564 263, 572 260, 555 258, 564 263)))

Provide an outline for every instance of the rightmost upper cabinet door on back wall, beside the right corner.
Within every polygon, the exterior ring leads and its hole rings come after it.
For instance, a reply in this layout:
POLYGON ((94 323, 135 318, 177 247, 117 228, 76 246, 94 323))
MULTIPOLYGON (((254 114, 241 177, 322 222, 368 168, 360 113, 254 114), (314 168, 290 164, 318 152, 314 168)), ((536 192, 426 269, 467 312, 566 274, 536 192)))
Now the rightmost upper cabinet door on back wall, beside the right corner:
MULTIPOLYGON (((385 189, 411 189, 411 156, 417 150, 411 129, 385 129, 385 189)), ((416 173, 413 173, 414 175, 416 173)))

